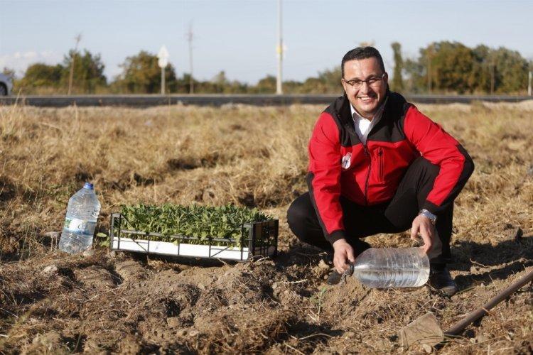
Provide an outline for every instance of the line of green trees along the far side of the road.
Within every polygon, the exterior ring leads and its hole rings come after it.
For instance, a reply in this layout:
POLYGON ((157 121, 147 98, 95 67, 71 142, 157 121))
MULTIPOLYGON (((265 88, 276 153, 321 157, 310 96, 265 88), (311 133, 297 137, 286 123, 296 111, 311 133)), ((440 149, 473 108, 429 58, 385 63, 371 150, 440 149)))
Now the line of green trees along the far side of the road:
MULTIPOLYGON (((515 50, 478 45, 469 48, 458 42, 441 41, 420 48, 416 58, 403 58, 400 43, 392 43, 394 68, 389 72, 393 90, 414 94, 524 94, 533 60, 515 50)), ((122 72, 108 82, 99 54, 89 50, 70 50, 56 65, 30 65, 23 77, 14 71, 14 93, 65 94, 72 69, 72 94, 157 94, 161 92, 161 68, 155 54, 141 50, 126 58, 122 72), (72 67, 73 62, 73 67, 72 67), (72 67, 72 68, 71 68, 72 67)), ((340 94, 340 66, 318 72, 303 81, 285 81, 287 94, 340 94)), ((257 84, 230 80, 221 71, 211 80, 197 80, 184 73, 176 75, 173 65, 165 70, 166 92, 171 94, 271 94, 276 92, 276 77, 266 75, 257 84)))

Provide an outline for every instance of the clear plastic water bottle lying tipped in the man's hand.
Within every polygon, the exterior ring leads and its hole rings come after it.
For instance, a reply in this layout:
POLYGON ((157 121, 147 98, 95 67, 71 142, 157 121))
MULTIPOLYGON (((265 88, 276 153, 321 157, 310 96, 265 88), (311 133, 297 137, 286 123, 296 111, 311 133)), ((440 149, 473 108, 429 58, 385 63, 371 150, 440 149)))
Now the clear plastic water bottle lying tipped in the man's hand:
POLYGON ((409 288, 429 278, 429 258, 420 248, 370 248, 345 271, 370 288, 409 288))

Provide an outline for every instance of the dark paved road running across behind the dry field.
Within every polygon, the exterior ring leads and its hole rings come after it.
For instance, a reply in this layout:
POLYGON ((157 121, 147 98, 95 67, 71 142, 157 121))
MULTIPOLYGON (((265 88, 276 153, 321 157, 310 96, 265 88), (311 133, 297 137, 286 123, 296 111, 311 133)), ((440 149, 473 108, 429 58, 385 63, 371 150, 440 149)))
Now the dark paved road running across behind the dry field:
MULTIPOLYGON (((149 107, 168 104, 221 106, 223 104, 249 104, 257 106, 289 104, 329 104, 337 95, 73 95, 0 97, 0 105, 26 104, 38 107, 77 106, 127 106, 149 107)), ((472 95, 407 95, 411 102, 420 104, 451 104, 453 102, 520 102, 528 96, 472 96, 472 95)))

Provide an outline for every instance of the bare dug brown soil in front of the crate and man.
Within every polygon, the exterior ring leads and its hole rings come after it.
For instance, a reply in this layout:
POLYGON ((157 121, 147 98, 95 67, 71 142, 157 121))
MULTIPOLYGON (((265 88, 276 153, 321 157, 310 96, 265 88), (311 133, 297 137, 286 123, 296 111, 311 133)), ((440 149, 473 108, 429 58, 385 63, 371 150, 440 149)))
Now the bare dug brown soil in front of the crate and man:
MULTIPOLYGON (((401 348, 402 326, 433 312, 443 329, 451 327, 531 270, 532 246, 527 236, 494 248, 492 257, 512 254, 504 263, 490 265, 483 253, 454 264, 463 292, 451 298, 427 285, 379 290, 355 278, 325 285, 330 260, 303 246, 279 258, 215 266, 105 249, 55 252, 2 266, 2 310, 18 316, 0 341, 5 352, 22 354, 418 351, 401 348)), ((441 352, 478 352, 498 342, 531 351, 532 295, 529 284, 441 352), (529 314, 529 324, 508 314, 529 314)))

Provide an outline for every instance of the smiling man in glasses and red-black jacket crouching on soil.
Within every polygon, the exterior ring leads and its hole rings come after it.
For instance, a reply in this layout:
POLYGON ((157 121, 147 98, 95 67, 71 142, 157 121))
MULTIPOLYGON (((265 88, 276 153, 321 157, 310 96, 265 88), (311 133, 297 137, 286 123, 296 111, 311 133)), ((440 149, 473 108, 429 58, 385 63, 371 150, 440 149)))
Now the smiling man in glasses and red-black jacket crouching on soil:
POLYGON ((450 261, 453 200, 473 173, 456 139, 390 92, 379 52, 355 48, 341 62, 345 90, 323 111, 308 146, 309 192, 287 221, 303 242, 333 249, 337 283, 348 263, 370 247, 360 238, 411 228, 431 263, 429 282, 457 292, 450 261))

